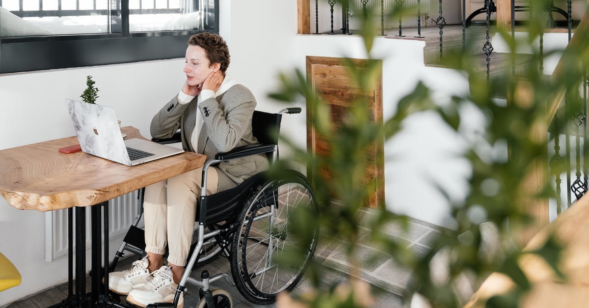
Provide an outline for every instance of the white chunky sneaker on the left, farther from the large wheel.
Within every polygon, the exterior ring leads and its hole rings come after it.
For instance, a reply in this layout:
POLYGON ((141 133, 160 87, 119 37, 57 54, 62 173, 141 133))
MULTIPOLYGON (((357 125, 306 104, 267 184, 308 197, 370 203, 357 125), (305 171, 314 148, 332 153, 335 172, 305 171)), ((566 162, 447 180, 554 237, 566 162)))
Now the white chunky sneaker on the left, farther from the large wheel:
POLYGON ((147 266, 149 261, 147 256, 141 260, 133 262, 128 270, 114 271, 108 274, 108 289, 127 295, 133 288, 141 287, 151 279, 147 266))

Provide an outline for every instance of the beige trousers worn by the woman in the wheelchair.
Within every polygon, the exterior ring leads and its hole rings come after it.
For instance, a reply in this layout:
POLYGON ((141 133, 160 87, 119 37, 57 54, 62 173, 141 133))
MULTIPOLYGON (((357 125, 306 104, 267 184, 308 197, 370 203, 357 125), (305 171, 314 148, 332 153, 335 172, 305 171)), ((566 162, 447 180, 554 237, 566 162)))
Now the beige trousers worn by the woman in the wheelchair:
MULTIPOLYGON (((145 251, 154 254, 169 250, 168 263, 186 266, 200 199, 203 168, 174 176, 145 187, 143 211, 145 251)), ((217 192, 217 168, 207 170, 207 195, 217 192)))

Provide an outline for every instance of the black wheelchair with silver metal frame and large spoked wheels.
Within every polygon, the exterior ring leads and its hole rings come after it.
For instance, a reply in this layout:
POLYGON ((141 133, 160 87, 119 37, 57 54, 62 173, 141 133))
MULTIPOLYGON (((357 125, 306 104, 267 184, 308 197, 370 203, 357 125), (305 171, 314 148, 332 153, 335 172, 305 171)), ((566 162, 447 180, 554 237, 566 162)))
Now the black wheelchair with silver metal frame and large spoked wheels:
MULTIPOLYGON (((254 111, 253 135, 259 143, 219 153, 203 166, 203 179, 210 166, 233 158, 265 153, 270 164, 278 159, 278 133, 284 113, 300 113, 300 108, 286 108, 278 113, 254 111)), ((180 140, 178 132, 170 139, 153 139, 160 143, 180 140)), ((305 273, 317 245, 318 230, 307 247, 302 263, 293 267, 280 266, 274 261, 284 248, 297 247, 299 241, 290 236, 289 215, 297 208, 304 208, 316 215, 318 208, 315 194, 306 176, 294 170, 282 172, 270 178, 268 172, 258 173, 236 188, 206 195, 203 181, 200 203, 197 205, 195 232, 196 243, 191 245, 184 275, 178 284, 173 303, 155 303, 147 307, 177 307, 181 292, 187 292, 187 283, 200 286, 200 302, 197 307, 226 308, 232 306, 227 291, 210 290, 210 283, 224 279, 247 300, 254 304, 270 304, 281 291, 292 290, 305 273), (231 277, 227 273, 211 276, 207 270, 201 280, 190 276, 194 267, 202 266, 216 257, 229 259, 231 277)), ((123 244, 115 253, 109 271, 114 270, 124 251, 145 255, 143 230, 137 227, 143 215, 143 194, 139 195, 140 212, 125 235, 123 244)), ((297 248, 298 249, 298 248, 297 248)), ((118 305, 120 307, 126 307, 118 305)))

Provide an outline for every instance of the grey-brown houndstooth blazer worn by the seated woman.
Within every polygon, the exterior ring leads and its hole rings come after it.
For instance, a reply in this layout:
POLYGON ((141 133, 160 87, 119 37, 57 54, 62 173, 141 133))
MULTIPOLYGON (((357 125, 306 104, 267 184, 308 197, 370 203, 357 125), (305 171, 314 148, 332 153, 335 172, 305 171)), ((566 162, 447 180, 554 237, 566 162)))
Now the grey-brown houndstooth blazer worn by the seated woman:
MULTIPOLYGON (((188 104, 171 99, 151 120, 151 136, 169 138, 180 129, 184 150, 201 153, 212 159, 217 153, 228 152, 238 146, 257 143, 252 134, 252 115, 256 99, 249 89, 236 84, 216 98, 204 100, 198 106, 198 96, 188 104), (203 127, 195 150, 190 137, 196 123, 198 109, 203 116, 203 127)), ((230 159, 216 166, 219 191, 234 188, 250 176, 269 168, 265 155, 230 159)))

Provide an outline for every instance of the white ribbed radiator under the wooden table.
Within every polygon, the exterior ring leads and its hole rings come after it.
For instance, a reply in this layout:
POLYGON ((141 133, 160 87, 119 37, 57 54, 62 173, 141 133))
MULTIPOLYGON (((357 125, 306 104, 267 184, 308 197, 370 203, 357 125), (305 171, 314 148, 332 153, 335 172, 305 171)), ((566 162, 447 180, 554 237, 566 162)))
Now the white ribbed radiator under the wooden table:
MULTIPOLYGON (((137 192, 112 199, 108 203, 108 237, 123 237, 139 212, 137 192)), ((102 213, 102 211, 101 211, 102 213)), ((75 234, 75 209, 74 209, 75 234)), ((91 208, 86 208, 86 249, 91 247, 91 208)), ((142 220, 143 222, 143 220, 142 220)), ((142 227, 141 225, 139 227, 142 227)), ((102 231, 104 232, 104 231, 102 231)), ((74 240, 75 245, 75 240, 74 240)), ((68 254, 68 211, 61 209, 45 213, 45 261, 68 254)))

